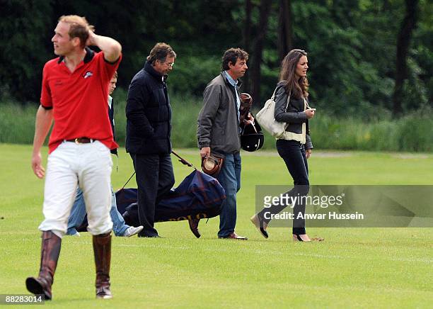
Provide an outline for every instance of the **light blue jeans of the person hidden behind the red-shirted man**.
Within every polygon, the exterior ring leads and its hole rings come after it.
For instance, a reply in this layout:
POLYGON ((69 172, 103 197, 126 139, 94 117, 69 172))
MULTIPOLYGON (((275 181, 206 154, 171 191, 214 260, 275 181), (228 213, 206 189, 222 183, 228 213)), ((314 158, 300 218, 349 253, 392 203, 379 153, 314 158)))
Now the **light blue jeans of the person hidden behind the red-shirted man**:
MULTIPOLYGON (((83 191, 78 188, 76 190, 74 205, 72 206, 71 214, 69 215, 67 235, 74 235, 76 233, 76 227, 83 223, 85 216, 86 203, 84 203, 83 191)), ((110 216, 112 220, 112 231, 116 236, 123 236, 129 225, 125 224, 122 215, 117 211, 116 195, 114 191, 112 191, 112 188, 110 216)))

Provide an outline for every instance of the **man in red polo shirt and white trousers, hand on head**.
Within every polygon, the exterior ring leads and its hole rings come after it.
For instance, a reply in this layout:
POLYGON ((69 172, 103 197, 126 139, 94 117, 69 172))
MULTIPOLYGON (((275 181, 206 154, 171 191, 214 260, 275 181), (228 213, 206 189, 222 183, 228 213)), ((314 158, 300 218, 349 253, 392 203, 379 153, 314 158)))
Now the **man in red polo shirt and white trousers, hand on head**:
POLYGON ((45 64, 36 113, 32 168, 45 176, 40 148, 51 128, 43 213, 40 273, 25 283, 28 291, 51 299, 54 271, 77 186, 88 213, 96 264, 96 297, 110 292, 110 149, 117 147, 108 118, 108 84, 119 66, 122 47, 96 35, 80 16, 62 16, 52 37, 56 59, 45 64), (86 47, 96 45, 101 52, 86 47))

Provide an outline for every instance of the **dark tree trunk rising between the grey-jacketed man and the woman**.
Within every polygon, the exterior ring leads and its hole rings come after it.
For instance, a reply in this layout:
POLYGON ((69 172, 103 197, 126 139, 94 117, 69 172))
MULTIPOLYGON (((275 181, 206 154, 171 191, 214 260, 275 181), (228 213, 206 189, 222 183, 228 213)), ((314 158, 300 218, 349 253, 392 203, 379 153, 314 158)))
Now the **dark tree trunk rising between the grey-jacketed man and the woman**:
POLYGON ((260 64, 262 64, 263 41, 267 31, 267 20, 269 18, 271 0, 260 1, 260 20, 258 34, 255 40, 253 55, 253 99, 260 102, 260 64))

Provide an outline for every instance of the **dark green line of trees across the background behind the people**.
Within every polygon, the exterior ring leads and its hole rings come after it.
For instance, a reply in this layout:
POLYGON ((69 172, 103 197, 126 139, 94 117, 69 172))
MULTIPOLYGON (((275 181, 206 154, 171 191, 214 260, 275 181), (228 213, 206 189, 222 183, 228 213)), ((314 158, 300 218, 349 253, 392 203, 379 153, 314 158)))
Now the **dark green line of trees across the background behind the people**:
POLYGON ((168 85, 185 96, 201 96, 224 50, 243 47, 243 91, 259 107, 296 47, 308 52, 311 102, 330 115, 398 117, 432 107, 429 0, 1 0, 1 8, 0 102, 39 100, 57 18, 78 14, 122 43, 125 89, 156 42, 178 53, 168 85))

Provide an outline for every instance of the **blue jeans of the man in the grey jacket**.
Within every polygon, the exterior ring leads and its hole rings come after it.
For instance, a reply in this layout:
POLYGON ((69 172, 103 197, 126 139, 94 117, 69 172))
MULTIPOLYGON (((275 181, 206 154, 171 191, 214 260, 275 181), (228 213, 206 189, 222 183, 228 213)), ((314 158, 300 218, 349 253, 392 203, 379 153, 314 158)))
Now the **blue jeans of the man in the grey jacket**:
POLYGON ((224 154, 224 164, 217 179, 226 191, 219 215, 219 237, 228 237, 236 225, 236 193, 241 189, 241 154, 224 154))

